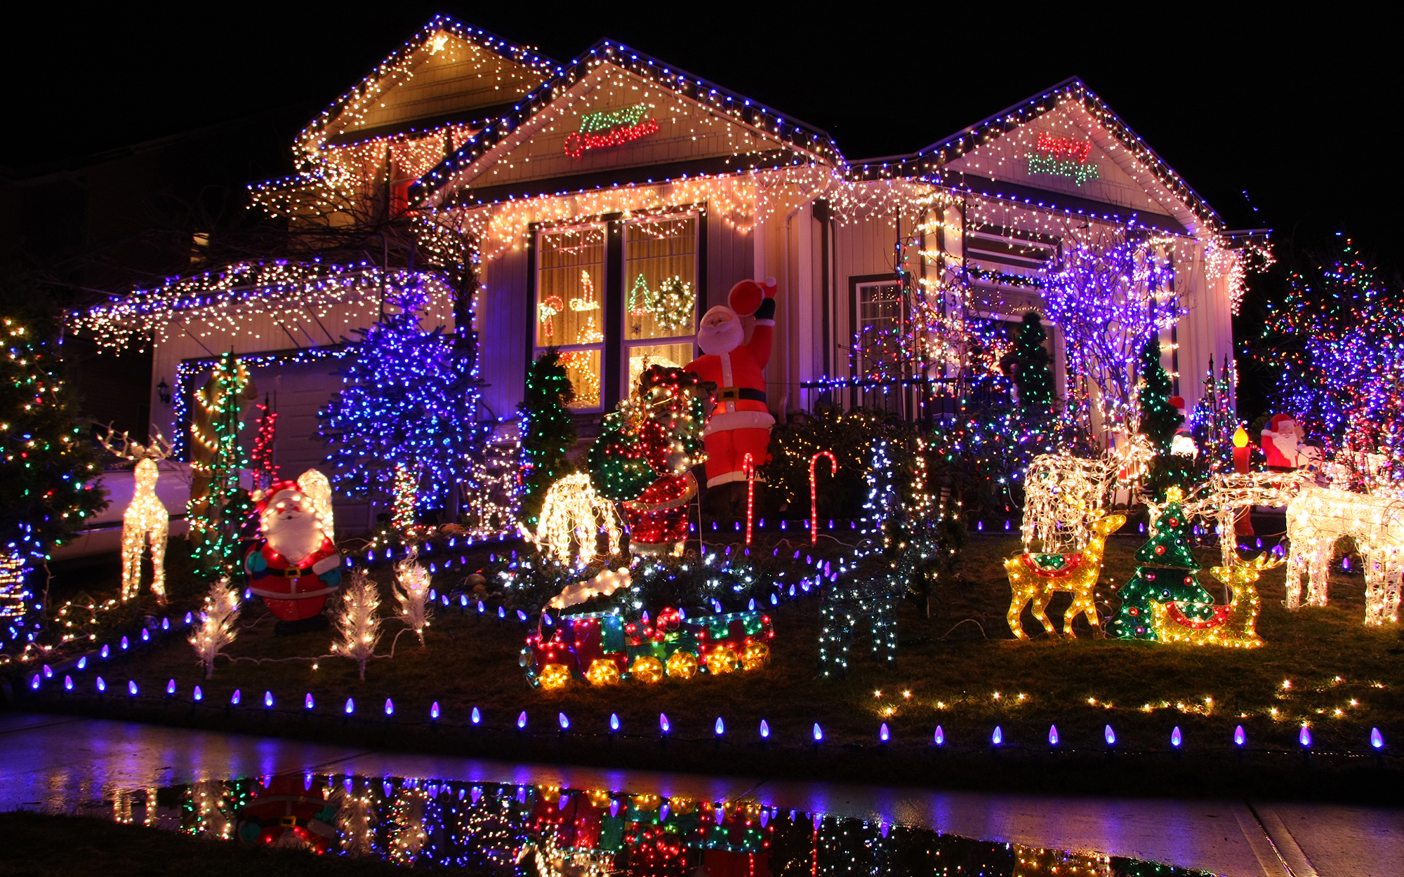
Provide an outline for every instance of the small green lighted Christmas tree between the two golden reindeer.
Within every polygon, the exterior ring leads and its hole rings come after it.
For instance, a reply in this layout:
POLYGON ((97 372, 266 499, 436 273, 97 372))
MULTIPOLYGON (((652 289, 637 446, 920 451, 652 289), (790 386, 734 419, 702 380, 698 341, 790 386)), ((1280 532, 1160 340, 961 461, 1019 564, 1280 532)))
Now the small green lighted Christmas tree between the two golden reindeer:
POLYGON ((1151 603, 1174 601, 1191 619, 1213 613, 1214 598, 1205 591, 1195 573, 1199 564, 1189 551, 1189 521, 1179 502, 1179 487, 1167 490, 1168 504, 1151 525, 1150 540, 1136 551, 1136 574, 1122 585, 1122 606, 1111 620, 1111 633, 1123 640, 1154 640, 1151 603))

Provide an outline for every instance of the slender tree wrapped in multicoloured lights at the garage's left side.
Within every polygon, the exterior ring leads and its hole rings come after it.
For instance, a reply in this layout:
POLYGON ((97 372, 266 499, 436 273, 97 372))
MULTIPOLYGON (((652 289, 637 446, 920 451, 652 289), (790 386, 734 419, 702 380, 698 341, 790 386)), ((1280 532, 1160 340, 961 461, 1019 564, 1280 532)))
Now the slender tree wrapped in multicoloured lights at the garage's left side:
POLYGON ((199 578, 230 575, 237 564, 239 539, 250 519, 249 495, 239 486, 239 470, 249 464, 239 441, 243 429, 249 370, 233 354, 215 363, 209 383, 195 393, 204 417, 191 422, 195 448, 187 519, 191 558, 199 578))

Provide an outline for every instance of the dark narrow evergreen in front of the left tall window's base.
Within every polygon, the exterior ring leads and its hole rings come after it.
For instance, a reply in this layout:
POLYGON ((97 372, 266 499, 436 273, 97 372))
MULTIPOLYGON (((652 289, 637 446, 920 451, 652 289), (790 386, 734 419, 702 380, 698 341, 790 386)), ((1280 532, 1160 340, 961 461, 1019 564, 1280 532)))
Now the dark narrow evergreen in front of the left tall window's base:
POLYGON ((566 452, 574 448, 578 434, 570 417, 570 401, 576 389, 570 384, 566 366, 556 348, 548 349, 526 372, 526 397, 517 407, 521 411, 522 491, 521 519, 534 532, 541 523, 541 504, 546 491, 563 476, 570 474, 566 452))

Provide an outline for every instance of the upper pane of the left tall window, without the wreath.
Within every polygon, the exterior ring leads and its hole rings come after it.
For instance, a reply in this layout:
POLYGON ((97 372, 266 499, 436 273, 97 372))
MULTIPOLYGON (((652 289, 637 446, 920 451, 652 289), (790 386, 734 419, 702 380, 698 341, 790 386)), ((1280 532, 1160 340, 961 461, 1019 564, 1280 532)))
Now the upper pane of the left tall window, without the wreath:
POLYGON ((538 265, 536 347, 604 341, 604 229, 542 234, 538 265))

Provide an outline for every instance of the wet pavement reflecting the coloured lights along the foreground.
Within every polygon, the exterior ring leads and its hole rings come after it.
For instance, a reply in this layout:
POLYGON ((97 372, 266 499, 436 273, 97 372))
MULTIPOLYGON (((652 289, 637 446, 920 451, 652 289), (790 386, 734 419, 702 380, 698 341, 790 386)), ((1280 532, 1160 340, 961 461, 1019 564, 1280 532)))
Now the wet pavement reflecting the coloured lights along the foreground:
MULTIPOLYGON (((382 832, 393 832, 392 815, 403 814, 407 801, 420 801, 439 821, 439 834, 430 832, 431 842, 417 853, 430 856, 431 863, 462 857, 472 832, 462 825, 455 829, 458 824, 452 819, 469 819, 472 807, 491 804, 503 808, 500 814, 494 810, 494 819, 517 825, 522 843, 548 859, 598 859, 607 855, 608 843, 615 843, 608 841, 611 826, 621 824, 625 841, 609 856, 622 855, 618 849, 628 848, 628 841, 653 836, 649 832, 691 838, 701 831, 696 836, 712 839, 694 843, 691 853, 677 852, 694 855, 698 863, 705 856, 754 856, 755 850, 746 846, 754 838, 746 832, 762 828, 775 841, 768 855, 779 856, 782 849, 799 855, 793 852, 793 838, 803 828, 806 843, 813 845, 816 873, 826 870, 821 850, 824 856, 835 856, 848 843, 859 852, 842 853, 847 856, 842 863, 831 863, 834 873, 862 864, 854 856, 878 856, 872 862, 863 859, 868 863, 863 867, 883 873, 887 867, 882 864, 883 855, 904 856, 900 870, 906 873, 945 873, 936 864, 929 869, 913 864, 920 859, 914 852, 920 846, 928 853, 936 849, 931 856, 945 850, 946 859, 939 862, 966 856, 963 860, 973 864, 1004 857, 1015 862, 1014 870, 997 864, 981 867, 993 869, 987 873, 1011 874, 1024 873, 1018 863, 1032 864, 1035 857, 1043 864, 1085 860, 1102 869, 1094 873, 1105 874, 1140 873, 1132 866, 1146 862, 1234 877, 1404 874, 1404 810, 1257 800, 1063 798, 515 765, 105 720, 0 716, 0 811, 112 814, 128 821, 135 803, 150 824, 198 834, 202 825, 208 829, 208 819, 191 817, 199 808, 190 801, 195 794, 208 794, 208 783, 222 783, 218 796, 247 807, 260 794, 271 800, 274 777, 282 776, 281 782, 288 784, 291 775, 296 775, 299 796, 320 796, 319 807, 323 800, 340 800, 345 810, 345 801, 355 798, 372 811, 379 808, 388 826, 382 832), (472 807, 463 803, 469 791, 472 807), (649 796, 658 798, 651 810, 649 796), (698 803, 703 803, 701 810, 698 803), (576 817, 564 818, 567 804, 576 817), (451 817, 459 807, 465 815, 451 817), (157 811, 164 814, 160 819, 153 815, 157 811), (507 818, 508 811, 515 814, 515 822, 507 818), (713 815, 716 829, 710 822, 713 815), (703 829, 696 828, 699 817, 705 817, 703 829), (580 826, 590 824, 594 834, 562 835, 573 822, 571 832, 583 832, 580 826), (706 834, 723 828, 733 832, 730 841, 724 831, 722 841, 706 834), (430 846, 441 850, 439 859, 431 856, 430 846), (451 855, 451 849, 459 852, 451 855)), ((333 810, 327 805, 326 812, 333 810)), ((327 819, 323 839, 334 846, 336 838, 343 838, 341 849, 350 849, 344 832, 337 834, 337 819, 327 819)), ((244 825, 247 819, 236 822, 230 815, 225 836, 237 831, 230 828, 236 824, 244 825)), ((386 850, 400 849, 395 838, 385 835, 373 843, 386 850)), ((524 849, 518 848, 514 856, 519 859, 524 849)))

